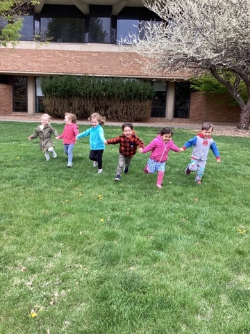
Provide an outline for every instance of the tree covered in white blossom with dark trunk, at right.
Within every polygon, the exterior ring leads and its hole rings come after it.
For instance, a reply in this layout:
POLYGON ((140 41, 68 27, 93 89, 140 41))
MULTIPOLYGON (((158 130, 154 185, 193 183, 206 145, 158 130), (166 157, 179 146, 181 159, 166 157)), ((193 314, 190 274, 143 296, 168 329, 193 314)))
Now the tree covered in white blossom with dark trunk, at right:
POLYGON ((163 21, 144 22, 137 40, 130 41, 148 67, 163 72, 190 68, 210 74, 238 102, 239 129, 250 116, 250 1, 142 0, 163 21), (228 79, 230 77, 230 80, 228 79), (232 80, 233 77, 233 80, 232 80), (241 95, 242 83, 247 100, 241 95))

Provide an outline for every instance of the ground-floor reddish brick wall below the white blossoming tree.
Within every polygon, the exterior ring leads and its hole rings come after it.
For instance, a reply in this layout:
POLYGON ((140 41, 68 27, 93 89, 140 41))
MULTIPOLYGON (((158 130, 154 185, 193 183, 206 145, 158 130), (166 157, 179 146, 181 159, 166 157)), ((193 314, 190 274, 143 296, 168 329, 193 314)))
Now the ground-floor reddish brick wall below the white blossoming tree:
POLYGON ((192 92, 190 103, 190 122, 217 122, 238 123, 240 120, 240 107, 228 106, 227 96, 223 95, 201 95, 192 92), (219 101, 225 101, 218 103, 219 101))

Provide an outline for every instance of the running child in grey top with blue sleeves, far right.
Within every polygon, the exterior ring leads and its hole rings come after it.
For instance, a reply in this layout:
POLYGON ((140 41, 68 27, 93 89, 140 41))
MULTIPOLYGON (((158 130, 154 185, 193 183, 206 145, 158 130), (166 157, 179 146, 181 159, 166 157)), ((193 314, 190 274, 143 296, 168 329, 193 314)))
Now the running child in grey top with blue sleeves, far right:
POLYGON ((215 141, 211 138, 213 132, 213 124, 210 122, 205 122, 201 126, 201 132, 197 134, 194 138, 187 141, 181 150, 186 150, 193 146, 191 154, 191 162, 188 164, 188 167, 185 169, 185 173, 189 175, 191 172, 196 172, 196 177, 194 179, 197 184, 201 184, 201 178, 206 167, 206 161, 208 159, 209 149, 213 151, 217 162, 221 162, 219 151, 215 144, 215 141))

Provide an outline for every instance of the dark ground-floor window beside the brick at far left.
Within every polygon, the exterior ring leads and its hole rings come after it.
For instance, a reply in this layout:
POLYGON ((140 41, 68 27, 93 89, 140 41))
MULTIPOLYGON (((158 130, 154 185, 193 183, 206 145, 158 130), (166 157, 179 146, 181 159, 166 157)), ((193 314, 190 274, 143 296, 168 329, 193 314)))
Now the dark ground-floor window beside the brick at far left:
POLYGON ((27 112, 27 78, 12 77, 13 111, 27 112))

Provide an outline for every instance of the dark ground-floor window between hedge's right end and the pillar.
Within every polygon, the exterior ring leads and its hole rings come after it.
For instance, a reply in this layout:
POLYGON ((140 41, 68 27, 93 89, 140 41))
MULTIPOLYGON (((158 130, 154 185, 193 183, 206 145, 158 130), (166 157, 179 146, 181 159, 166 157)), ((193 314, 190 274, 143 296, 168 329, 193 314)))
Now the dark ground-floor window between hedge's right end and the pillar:
POLYGON ((167 82, 153 82, 153 88, 156 92, 152 101, 151 117, 165 117, 166 116, 166 92, 167 82))

